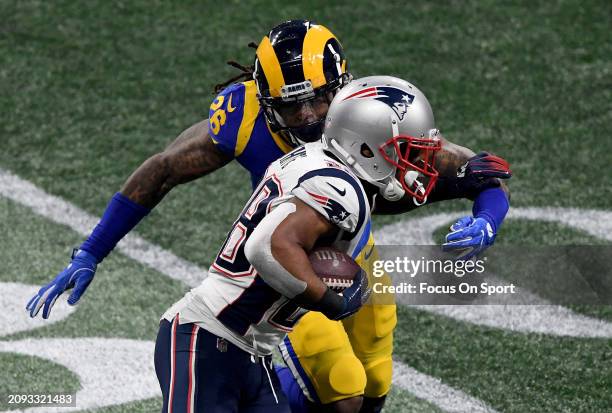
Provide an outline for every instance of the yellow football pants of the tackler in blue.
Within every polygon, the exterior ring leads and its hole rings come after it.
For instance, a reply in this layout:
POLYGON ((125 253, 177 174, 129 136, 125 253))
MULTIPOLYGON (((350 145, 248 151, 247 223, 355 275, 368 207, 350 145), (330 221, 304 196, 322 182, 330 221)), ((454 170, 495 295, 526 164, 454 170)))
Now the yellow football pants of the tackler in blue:
MULTIPOLYGON (((378 259, 374 240, 356 261, 374 282, 371 263, 378 259)), ((304 315, 280 346, 283 358, 311 401, 331 403, 353 396, 380 397, 391 387, 393 330, 397 322, 392 297, 370 300, 354 316, 331 321, 311 311, 304 315), (386 303, 386 304, 372 304, 386 303)))

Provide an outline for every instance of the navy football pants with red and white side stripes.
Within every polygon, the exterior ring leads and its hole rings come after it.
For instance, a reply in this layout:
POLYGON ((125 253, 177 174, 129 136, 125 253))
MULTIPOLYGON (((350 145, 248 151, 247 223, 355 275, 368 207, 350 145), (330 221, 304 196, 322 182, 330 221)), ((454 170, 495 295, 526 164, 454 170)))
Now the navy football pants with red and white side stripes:
POLYGON ((251 356, 178 316, 160 322, 155 372, 162 413, 290 413, 270 356, 251 356))

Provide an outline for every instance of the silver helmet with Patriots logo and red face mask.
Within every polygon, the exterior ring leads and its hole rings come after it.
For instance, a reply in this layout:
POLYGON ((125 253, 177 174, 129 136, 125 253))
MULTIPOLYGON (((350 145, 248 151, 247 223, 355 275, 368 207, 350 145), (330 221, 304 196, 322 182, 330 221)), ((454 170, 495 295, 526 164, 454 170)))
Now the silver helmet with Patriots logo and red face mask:
POLYGON ((424 203, 438 178, 440 149, 431 106, 416 86, 391 76, 355 79, 332 101, 327 149, 390 201, 424 203))

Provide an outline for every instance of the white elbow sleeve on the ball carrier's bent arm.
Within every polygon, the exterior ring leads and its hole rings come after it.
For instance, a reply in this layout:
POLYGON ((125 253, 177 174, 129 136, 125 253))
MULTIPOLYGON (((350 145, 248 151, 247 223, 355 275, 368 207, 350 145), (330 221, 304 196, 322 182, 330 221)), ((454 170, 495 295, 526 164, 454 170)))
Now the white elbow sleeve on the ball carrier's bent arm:
POLYGON ((287 298, 294 298, 306 291, 307 284, 287 271, 272 255, 272 234, 276 227, 291 213, 295 205, 285 202, 277 206, 261 220, 244 245, 244 253, 259 276, 272 288, 287 298))

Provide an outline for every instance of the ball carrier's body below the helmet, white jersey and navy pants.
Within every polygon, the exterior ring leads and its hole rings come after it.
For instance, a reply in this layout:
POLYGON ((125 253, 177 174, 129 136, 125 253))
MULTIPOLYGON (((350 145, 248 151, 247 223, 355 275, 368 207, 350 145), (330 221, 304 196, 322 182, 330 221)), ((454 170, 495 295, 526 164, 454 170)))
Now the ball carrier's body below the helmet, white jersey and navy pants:
POLYGON ((272 163, 208 278, 163 316, 155 365, 164 409, 288 412, 271 369, 274 348, 305 311, 340 320, 369 291, 360 270, 342 295, 334 293, 315 275, 308 251, 325 239, 351 255, 367 240, 369 221, 359 179, 323 143, 272 163))

